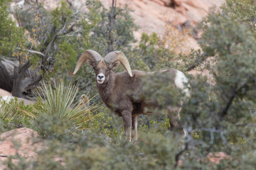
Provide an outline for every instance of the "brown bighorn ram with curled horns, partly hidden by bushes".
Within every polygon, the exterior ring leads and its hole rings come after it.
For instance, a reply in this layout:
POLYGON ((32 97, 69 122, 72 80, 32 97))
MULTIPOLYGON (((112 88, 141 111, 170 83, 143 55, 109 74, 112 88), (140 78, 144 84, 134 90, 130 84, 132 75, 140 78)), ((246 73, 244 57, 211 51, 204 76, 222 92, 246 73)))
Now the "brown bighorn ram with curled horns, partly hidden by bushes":
MULTIPOLYGON (((85 62, 87 62, 87 64, 95 71, 97 89, 102 101, 114 113, 122 116, 126 139, 131 141, 133 135, 134 140, 137 140, 137 115, 145 114, 144 109, 149 107, 149 105, 152 106, 152 103, 145 101, 145 99, 134 99, 134 97, 127 93, 127 91, 140 90, 143 86, 142 77, 154 73, 146 73, 139 70, 132 71, 129 61, 123 52, 110 52, 102 58, 99 53, 93 50, 86 50, 80 56, 71 76, 76 74, 85 62), (118 67, 120 63, 124 66, 124 69, 126 69, 127 72, 112 72, 112 69, 118 67), (132 130, 134 131, 134 134, 132 134, 132 130)), ((182 72, 177 69, 167 69, 159 72, 162 72, 163 74, 171 74, 173 80, 170 83, 174 84, 176 88, 181 89, 186 96, 190 96, 188 79, 182 72)), ((140 93, 138 93, 138 95, 139 94, 140 93)), ((180 110, 180 107, 172 108, 172 111, 175 111, 176 113, 179 113, 180 110)), ((178 125, 176 121, 171 121, 171 118, 169 119, 171 127, 178 125)))

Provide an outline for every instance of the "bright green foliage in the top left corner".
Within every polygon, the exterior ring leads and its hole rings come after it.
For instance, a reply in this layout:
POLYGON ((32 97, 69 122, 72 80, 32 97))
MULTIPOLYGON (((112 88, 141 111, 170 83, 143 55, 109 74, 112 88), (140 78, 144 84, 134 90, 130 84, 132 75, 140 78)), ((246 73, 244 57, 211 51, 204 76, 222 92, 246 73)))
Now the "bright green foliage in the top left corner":
POLYGON ((0 55, 11 57, 19 42, 23 42, 23 29, 18 28, 8 11, 9 1, 0 1, 0 55))

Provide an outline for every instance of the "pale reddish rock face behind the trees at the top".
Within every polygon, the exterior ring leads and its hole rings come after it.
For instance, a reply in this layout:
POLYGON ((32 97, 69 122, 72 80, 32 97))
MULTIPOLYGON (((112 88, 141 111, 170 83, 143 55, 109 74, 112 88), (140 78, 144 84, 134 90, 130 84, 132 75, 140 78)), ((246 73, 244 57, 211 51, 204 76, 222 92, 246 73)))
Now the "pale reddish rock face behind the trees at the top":
MULTIPOLYGON (((60 4, 60 0, 39 1, 43 2, 48 10, 60 4)), ((105 8, 112 6, 112 0, 100 1, 105 8)), ((78 7, 81 11, 86 10, 85 0, 73 0, 72 2, 75 8, 78 7)), ((225 0, 117 0, 117 6, 124 8, 127 4, 128 8, 133 10, 131 16, 134 18, 134 23, 140 27, 134 32, 134 35, 139 40, 144 32, 163 35, 166 21, 171 21, 174 26, 188 23, 195 27, 207 15, 211 7, 216 6, 218 8, 223 2, 225 0)), ((190 38, 186 42, 186 47, 188 47, 188 51, 191 48, 199 48, 194 38, 190 38)))

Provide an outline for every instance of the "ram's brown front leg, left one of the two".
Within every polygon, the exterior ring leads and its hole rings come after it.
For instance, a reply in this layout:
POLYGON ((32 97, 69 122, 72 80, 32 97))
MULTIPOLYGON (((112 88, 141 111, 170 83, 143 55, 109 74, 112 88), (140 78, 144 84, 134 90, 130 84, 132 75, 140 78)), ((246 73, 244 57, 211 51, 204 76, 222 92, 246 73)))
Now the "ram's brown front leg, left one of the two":
POLYGON ((122 119, 124 121, 125 139, 132 141, 132 113, 129 111, 122 111, 122 119))

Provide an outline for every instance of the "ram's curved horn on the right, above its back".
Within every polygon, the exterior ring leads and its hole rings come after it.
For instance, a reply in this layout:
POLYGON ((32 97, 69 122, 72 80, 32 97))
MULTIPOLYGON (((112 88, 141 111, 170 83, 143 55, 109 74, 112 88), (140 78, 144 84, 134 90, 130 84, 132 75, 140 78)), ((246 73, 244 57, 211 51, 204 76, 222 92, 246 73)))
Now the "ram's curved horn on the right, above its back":
POLYGON ((104 57, 104 61, 107 64, 112 64, 117 61, 121 62, 121 64, 124 66, 124 69, 126 69, 126 71, 128 72, 129 76, 132 77, 132 69, 129 65, 129 61, 127 60, 127 57, 124 55, 123 52, 120 52, 120 51, 110 52, 104 57))

